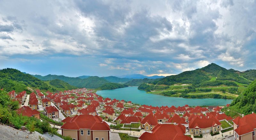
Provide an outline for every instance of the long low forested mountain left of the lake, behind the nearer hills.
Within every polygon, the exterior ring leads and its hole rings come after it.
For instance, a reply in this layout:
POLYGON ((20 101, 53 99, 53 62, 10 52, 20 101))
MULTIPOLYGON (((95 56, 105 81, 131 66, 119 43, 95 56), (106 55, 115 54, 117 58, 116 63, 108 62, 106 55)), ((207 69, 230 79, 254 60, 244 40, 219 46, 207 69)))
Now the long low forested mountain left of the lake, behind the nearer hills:
MULTIPOLYGON (((90 76, 84 79, 81 79, 79 77, 67 77, 63 75, 33 75, 34 77, 37 77, 43 81, 50 81, 54 79, 60 79, 64 82, 67 82, 70 85, 76 86, 76 87, 86 87, 86 88, 98 88, 103 84, 110 83, 106 79, 98 77, 98 76, 90 76)), ((82 76, 83 77, 83 76, 82 76)))

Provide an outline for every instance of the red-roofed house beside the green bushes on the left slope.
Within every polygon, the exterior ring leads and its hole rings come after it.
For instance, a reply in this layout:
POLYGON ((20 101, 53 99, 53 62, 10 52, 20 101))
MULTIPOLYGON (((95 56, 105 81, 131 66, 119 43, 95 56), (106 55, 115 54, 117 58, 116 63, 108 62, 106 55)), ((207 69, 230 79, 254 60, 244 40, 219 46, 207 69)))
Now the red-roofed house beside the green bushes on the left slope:
POLYGON ((31 109, 28 106, 23 106, 19 109, 17 109, 17 113, 18 114, 22 114, 22 116, 28 116, 28 117, 36 117, 38 119, 40 119, 40 112, 37 111, 36 109, 31 109))

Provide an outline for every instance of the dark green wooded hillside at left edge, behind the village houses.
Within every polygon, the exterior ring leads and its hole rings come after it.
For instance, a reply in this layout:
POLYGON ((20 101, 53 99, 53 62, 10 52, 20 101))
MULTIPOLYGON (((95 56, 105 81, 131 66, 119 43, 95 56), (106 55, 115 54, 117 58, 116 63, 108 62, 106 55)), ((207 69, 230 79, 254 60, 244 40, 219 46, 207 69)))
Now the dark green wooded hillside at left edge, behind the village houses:
POLYGON ((4 88, 6 91, 31 92, 28 90, 28 87, 40 90, 50 89, 50 86, 40 79, 24 74, 19 70, 11 68, 0 70, 0 88, 4 88))

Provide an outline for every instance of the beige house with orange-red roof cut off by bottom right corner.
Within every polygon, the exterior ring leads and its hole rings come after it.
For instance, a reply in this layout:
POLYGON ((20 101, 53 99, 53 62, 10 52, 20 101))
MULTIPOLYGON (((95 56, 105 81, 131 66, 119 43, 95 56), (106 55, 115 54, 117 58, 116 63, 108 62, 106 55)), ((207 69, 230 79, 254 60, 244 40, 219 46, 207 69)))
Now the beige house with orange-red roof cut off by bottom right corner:
POLYGON ((236 140, 251 139, 255 140, 256 114, 245 115, 244 117, 236 117, 234 122, 234 137, 236 140))

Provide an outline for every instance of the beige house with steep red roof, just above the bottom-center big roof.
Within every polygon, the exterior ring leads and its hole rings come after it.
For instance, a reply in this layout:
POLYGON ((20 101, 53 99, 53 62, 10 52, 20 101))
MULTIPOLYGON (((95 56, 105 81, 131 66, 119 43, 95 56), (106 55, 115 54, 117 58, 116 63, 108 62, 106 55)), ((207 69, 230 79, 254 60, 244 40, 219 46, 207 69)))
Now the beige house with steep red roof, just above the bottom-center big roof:
POLYGON ((150 113, 142 119, 140 122, 140 128, 144 129, 145 131, 151 131, 157 124, 157 120, 153 116, 153 113, 150 113))

